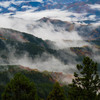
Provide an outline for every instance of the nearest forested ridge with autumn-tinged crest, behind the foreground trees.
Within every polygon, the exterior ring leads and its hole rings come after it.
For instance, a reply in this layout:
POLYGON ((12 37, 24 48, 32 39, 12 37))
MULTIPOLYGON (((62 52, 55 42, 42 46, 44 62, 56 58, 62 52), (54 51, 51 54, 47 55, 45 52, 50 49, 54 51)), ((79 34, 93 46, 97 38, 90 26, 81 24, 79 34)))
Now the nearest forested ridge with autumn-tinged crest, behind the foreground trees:
MULTIPOLYGON (((48 94, 53 88, 54 83, 57 81, 55 77, 61 78, 61 73, 53 73, 53 72, 39 72, 38 70, 32 70, 29 68, 24 69, 24 66, 19 65, 0 65, 0 100, 1 95, 5 89, 7 83, 14 77, 16 73, 21 73, 25 75, 31 82, 35 83, 37 88, 37 93, 39 98, 46 100, 48 94)), ((71 77, 68 75, 66 77, 71 77)), ((60 83, 65 90, 65 94, 67 95, 67 86, 60 83)))

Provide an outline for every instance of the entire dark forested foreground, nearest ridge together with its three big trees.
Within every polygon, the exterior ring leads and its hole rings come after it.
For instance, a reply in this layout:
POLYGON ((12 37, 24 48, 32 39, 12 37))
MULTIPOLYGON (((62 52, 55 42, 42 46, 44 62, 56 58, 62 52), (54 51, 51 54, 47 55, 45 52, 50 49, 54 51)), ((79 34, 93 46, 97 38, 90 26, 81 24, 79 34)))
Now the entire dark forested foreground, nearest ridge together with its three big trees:
POLYGON ((46 72, 1 66, 0 100, 100 100, 97 63, 85 57, 76 68, 72 83, 64 85, 46 72))

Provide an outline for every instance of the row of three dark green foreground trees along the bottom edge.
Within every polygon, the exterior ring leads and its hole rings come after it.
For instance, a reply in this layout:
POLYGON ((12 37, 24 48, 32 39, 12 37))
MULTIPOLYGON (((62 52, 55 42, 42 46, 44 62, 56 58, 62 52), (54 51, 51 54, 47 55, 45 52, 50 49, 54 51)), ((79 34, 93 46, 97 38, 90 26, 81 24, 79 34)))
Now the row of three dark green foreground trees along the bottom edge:
MULTIPOLYGON (((77 65, 72 83, 68 85, 68 95, 58 82, 46 100, 100 100, 100 77, 97 63, 89 57, 83 59, 82 65, 77 65)), ((2 100, 44 100, 37 94, 34 82, 21 73, 17 73, 6 85, 2 100)))

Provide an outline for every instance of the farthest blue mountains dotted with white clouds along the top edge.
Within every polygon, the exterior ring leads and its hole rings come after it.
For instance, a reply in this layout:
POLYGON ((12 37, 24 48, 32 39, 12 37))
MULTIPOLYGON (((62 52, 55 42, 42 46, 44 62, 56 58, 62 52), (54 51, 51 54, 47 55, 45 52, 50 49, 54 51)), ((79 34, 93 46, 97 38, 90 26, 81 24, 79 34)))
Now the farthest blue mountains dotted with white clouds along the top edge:
POLYGON ((9 14, 9 17, 13 17, 20 12, 38 13, 58 9, 75 13, 69 16, 72 21, 76 18, 76 14, 80 14, 77 22, 90 24, 99 21, 99 4, 98 0, 2 0, 0 1, 0 14, 9 14))

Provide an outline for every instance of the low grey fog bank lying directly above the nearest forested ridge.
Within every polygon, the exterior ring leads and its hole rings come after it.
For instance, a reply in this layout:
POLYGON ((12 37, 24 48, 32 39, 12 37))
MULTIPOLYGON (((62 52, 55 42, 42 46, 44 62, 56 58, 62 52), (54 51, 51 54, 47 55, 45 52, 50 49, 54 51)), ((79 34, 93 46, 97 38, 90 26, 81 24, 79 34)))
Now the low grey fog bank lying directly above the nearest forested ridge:
POLYGON ((41 57, 36 56, 34 60, 29 57, 27 53, 20 58, 16 58, 11 54, 9 58, 10 65, 22 65, 25 67, 30 67, 31 69, 38 69, 39 71, 62 72, 67 74, 72 73, 76 69, 76 61, 74 59, 73 62, 68 62, 68 64, 65 65, 59 59, 47 53, 42 54, 41 57))

